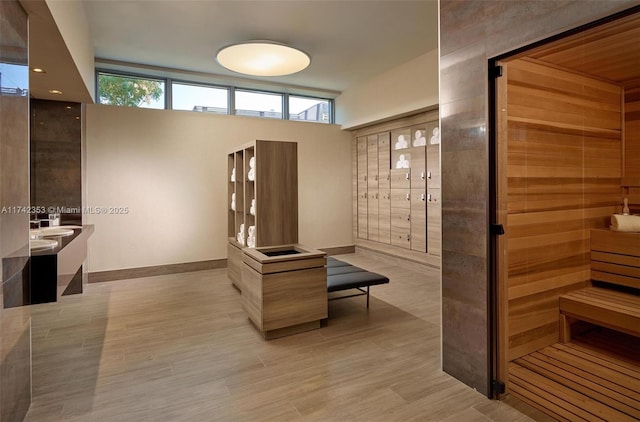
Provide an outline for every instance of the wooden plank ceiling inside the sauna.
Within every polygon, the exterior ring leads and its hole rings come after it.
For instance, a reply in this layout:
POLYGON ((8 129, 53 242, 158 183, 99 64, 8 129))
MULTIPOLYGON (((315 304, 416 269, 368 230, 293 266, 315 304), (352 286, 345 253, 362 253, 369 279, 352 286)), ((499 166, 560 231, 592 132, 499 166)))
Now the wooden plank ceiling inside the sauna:
POLYGON ((621 83, 640 85, 640 13, 530 50, 527 57, 621 83))

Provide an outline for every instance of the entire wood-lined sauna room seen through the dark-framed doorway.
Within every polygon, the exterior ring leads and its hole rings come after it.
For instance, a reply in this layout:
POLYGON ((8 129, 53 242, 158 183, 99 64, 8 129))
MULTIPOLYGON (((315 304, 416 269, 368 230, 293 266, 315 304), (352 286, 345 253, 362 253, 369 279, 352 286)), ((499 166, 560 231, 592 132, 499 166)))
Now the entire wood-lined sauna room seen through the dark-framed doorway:
POLYGON ((640 215, 639 39, 635 13, 492 63, 494 375, 557 420, 640 420, 640 229, 610 229, 640 215))

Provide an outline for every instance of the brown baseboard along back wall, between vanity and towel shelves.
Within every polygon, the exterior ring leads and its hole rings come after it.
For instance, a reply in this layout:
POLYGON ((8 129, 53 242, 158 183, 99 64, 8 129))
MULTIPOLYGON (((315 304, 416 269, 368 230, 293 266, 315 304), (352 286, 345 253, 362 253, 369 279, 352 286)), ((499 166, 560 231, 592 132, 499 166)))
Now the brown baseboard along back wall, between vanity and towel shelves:
POLYGON ((219 268, 227 268, 226 259, 157 265, 153 267, 125 268, 122 270, 96 271, 89 273, 89 283, 188 273, 192 271, 216 270, 219 268))

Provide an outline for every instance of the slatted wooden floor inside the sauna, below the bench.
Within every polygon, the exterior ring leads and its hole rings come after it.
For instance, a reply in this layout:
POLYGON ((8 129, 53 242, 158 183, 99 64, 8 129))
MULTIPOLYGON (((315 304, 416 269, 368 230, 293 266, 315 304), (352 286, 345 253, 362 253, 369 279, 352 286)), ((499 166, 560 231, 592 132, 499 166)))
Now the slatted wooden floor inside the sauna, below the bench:
POLYGON ((640 420, 640 339, 603 328, 509 364, 511 393, 561 421, 640 420))

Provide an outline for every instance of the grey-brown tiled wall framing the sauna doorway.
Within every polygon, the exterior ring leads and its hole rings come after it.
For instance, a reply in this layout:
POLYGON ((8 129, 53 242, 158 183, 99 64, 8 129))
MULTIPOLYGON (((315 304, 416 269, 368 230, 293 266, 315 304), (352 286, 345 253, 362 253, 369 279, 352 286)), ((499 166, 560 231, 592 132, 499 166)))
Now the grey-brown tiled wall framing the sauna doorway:
POLYGON ((488 60, 640 4, 440 0, 443 369, 490 395, 488 60))

